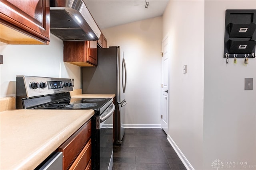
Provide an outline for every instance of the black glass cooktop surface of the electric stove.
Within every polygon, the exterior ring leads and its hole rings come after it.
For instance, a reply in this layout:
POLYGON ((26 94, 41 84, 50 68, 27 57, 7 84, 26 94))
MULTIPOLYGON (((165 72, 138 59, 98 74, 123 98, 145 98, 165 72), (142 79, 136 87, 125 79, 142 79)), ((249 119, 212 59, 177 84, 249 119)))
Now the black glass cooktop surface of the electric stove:
POLYGON ((33 109, 94 109, 94 111, 99 111, 103 106, 108 106, 111 103, 110 100, 112 98, 69 98, 33 109))

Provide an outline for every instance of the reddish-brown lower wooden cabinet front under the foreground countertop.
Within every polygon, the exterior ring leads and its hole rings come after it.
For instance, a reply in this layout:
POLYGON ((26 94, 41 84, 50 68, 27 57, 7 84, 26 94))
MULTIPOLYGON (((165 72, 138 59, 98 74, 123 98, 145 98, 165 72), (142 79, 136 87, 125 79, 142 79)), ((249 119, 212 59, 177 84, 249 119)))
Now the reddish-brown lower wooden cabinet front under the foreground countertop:
POLYGON ((92 156, 92 122, 89 120, 57 150, 63 152, 63 170, 90 167, 92 156))

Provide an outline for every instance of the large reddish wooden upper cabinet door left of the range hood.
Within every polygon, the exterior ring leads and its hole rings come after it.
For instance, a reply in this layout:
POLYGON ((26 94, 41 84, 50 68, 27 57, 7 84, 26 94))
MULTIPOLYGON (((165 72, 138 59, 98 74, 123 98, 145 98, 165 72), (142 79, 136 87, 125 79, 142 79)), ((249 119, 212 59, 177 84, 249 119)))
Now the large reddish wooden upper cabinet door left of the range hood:
POLYGON ((1 24, 44 43, 50 41, 49 0, 1 0, 0 18, 1 24))

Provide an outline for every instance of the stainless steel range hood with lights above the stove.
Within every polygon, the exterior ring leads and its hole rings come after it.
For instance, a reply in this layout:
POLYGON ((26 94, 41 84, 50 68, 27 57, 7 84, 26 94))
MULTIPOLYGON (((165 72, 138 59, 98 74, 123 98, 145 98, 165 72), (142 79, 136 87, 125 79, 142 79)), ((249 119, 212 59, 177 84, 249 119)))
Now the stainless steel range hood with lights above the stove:
POLYGON ((101 34, 83 0, 50 0, 50 31, 63 41, 95 41, 101 34))

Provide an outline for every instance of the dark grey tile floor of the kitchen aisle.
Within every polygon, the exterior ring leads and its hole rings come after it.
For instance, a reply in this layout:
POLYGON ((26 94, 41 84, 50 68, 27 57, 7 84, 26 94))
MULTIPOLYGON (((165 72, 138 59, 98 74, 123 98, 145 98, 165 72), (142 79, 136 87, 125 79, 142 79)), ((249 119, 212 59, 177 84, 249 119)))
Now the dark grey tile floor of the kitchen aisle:
POLYGON ((186 170, 162 129, 125 129, 112 170, 186 170))

